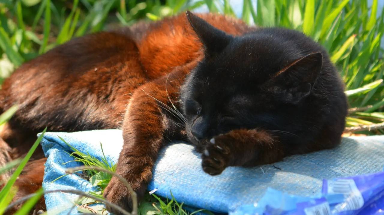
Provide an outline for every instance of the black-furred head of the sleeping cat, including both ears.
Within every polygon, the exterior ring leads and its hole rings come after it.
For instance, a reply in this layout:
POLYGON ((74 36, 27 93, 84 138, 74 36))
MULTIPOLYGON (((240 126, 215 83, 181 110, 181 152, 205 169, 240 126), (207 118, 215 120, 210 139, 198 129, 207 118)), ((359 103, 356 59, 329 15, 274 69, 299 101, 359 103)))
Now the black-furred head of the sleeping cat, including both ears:
POLYGON ((197 17, 190 22, 206 47, 182 87, 192 143, 240 128, 269 130, 288 154, 340 142, 347 101, 324 48, 294 30, 231 37, 197 17))

